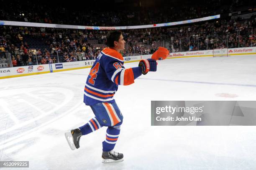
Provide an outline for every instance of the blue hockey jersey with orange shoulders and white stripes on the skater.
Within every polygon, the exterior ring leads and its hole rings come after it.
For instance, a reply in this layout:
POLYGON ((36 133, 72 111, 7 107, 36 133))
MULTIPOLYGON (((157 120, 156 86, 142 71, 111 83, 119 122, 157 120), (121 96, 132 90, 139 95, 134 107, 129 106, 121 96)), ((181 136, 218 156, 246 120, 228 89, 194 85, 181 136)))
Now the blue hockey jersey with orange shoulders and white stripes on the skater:
POLYGON ((113 103, 118 85, 130 85, 141 76, 141 67, 125 69, 123 56, 113 48, 104 48, 92 65, 84 87, 84 103, 113 103))

